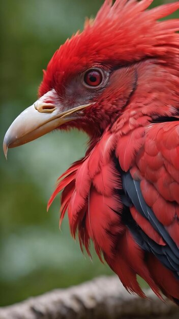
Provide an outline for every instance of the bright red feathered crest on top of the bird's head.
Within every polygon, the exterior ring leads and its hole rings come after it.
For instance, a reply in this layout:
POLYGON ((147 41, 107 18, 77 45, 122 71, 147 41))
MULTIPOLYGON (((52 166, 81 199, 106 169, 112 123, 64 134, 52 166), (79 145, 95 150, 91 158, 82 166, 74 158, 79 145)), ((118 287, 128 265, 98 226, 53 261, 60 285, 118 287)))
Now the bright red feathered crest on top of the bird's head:
POLYGON ((124 65, 145 57, 179 54, 179 21, 157 21, 177 9, 179 2, 146 10, 153 0, 106 0, 94 20, 55 52, 39 89, 59 91, 59 82, 93 65, 124 65))

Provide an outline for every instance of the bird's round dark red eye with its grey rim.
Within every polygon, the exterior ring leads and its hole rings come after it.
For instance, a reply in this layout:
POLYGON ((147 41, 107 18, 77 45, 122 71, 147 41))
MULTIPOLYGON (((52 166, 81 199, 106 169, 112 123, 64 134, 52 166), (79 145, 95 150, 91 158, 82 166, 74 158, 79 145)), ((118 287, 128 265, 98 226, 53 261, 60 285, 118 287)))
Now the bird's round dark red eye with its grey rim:
POLYGON ((90 89, 97 89, 104 85, 104 72, 99 68, 91 68, 82 74, 83 85, 90 89))

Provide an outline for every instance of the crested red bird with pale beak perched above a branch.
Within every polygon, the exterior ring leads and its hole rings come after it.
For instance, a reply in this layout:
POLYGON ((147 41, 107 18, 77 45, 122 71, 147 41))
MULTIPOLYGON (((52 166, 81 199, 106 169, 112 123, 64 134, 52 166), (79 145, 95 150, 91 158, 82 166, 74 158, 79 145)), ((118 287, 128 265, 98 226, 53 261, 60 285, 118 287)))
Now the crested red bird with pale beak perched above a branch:
POLYGON ((87 132, 85 156, 58 180, 72 235, 132 293, 136 275, 179 304, 179 2, 105 0, 59 47, 39 99, 10 126, 4 151, 59 128, 87 132))

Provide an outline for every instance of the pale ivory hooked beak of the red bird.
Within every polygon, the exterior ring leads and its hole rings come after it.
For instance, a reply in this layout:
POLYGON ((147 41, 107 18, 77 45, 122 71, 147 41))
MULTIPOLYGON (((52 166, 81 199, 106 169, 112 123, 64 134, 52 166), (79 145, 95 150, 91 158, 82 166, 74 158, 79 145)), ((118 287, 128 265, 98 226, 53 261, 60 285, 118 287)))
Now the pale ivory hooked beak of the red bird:
POLYGON ((68 111, 59 112, 54 104, 37 100, 31 107, 24 110, 9 127, 3 143, 7 158, 8 148, 31 142, 47 134, 64 123, 74 120, 74 113, 82 111, 90 104, 80 105, 68 111))

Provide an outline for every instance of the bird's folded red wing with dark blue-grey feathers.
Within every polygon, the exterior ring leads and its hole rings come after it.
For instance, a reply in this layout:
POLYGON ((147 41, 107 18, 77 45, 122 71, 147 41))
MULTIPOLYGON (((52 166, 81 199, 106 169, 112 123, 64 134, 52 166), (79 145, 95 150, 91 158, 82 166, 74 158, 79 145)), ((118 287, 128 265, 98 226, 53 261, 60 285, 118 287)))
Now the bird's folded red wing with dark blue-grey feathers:
POLYGON ((135 162, 122 173, 145 248, 136 240, 179 279, 179 121, 149 125, 143 141, 135 162))

